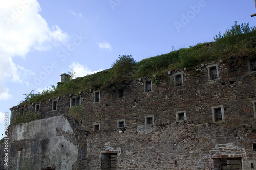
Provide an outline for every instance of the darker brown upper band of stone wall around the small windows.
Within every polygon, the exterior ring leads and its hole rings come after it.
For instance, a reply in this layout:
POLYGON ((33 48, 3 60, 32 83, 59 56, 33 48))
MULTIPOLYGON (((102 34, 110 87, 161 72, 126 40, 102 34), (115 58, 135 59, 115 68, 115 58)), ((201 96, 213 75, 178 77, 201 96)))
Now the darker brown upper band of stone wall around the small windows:
MULTIPOLYGON (((223 106, 225 125, 255 124, 253 104, 255 98, 255 74, 248 71, 247 64, 228 69, 222 63, 199 65, 194 70, 184 71, 184 83, 175 86, 175 72, 133 81, 124 89, 124 96, 100 92, 100 102, 94 102, 94 92, 82 91, 83 117, 77 119, 84 129, 93 131, 93 124, 100 129, 117 128, 117 120, 125 120, 125 127, 145 124, 145 116, 153 115, 155 123, 176 122, 176 112, 185 111, 188 121, 210 123, 212 107, 223 106), (216 64, 219 77, 209 80, 207 66, 216 64), (157 80, 153 81, 154 79, 157 80), (144 92, 144 81, 152 81, 152 91, 144 92), (157 86, 156 83, 159 83, 157 86)), ((71 96, 60 96, 40 103, 41 118, 68 114, 71 96), (52 111, 52 101, 57 101, 57 110, 52 111)), ((12 118, 20 108, 12 109, 12 118)), ((35 105, 24 108, 34 110, 35 105)), ((218 122, 217 122, 218 123, 218 122)), ((255 126, 255 125, 253 125, 255 126)))

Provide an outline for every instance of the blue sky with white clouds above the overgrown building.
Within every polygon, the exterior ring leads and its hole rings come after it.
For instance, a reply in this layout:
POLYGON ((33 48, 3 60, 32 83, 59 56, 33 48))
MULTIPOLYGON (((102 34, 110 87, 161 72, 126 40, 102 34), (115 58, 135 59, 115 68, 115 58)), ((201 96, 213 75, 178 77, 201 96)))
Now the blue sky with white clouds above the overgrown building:
MULTIPOLYGON (((0 132, 23 94, 111 67, 213 41, 234 21, 255 25, 253 0, 0 0, 0 132)), ((2 138, 3 136, 0 136, 2 138)))

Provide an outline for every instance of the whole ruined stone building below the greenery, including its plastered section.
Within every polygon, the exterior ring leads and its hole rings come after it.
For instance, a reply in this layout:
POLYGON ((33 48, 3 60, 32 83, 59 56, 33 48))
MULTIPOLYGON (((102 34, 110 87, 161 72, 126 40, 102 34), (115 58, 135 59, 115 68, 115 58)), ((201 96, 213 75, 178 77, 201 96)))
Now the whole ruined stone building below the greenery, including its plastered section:
POLYGON ((115 93, 13 107, 9 166, 0 168, 256 168, 255 75, 255 59, 231 68, 218 61, 140 78, 115 93), (39 111, 40 120, 12 124, 20 110, 39 111))

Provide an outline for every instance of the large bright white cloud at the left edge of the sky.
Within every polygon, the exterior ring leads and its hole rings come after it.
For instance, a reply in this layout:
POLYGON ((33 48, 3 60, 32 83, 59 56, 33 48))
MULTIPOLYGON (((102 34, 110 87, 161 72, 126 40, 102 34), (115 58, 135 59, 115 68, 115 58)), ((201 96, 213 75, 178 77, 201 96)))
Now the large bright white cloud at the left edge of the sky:
POLYGON ((67 33, 58 26, 50 28, 39 14, 37 0, 0 0, 0 100, 10 99, 3 85, 6 80, 22 83, 24 76, 33 74, 13 62, 14 56, 25 57, 31 50, 49 50, 68 41, 67 33))

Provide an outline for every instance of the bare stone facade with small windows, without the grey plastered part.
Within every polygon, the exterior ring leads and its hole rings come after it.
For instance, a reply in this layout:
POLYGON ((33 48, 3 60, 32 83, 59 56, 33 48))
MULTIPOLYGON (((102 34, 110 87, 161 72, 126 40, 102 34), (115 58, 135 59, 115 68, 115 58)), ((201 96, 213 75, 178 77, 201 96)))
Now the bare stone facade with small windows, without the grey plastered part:
MULTIPOLYGON (((79 99, 84 113, 77 121, 91 133, 75 128, 80 143, 73 169, 100 169, 102 155, 108 154, 117 156, 118 169, 220 169, 218 162, 231 158, 251 169, 256 166, 255 80, 247 64, 228 69, 208 63, 133 81, 121 98, 118 92, 92 90, 60 96, 40 103, 39 112, 41 119, 68 114, 71 99, 79 99)), ((12 108, 11 119, 19 109, 12 108)), ((35 105, 24 107, 28 110, 35 105)))

